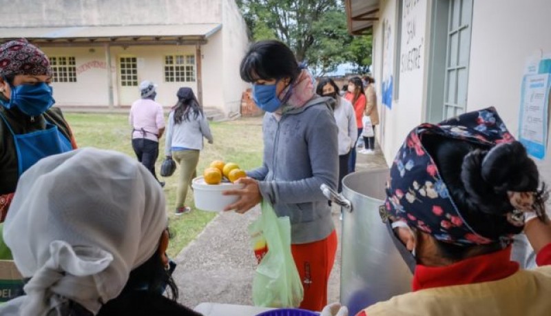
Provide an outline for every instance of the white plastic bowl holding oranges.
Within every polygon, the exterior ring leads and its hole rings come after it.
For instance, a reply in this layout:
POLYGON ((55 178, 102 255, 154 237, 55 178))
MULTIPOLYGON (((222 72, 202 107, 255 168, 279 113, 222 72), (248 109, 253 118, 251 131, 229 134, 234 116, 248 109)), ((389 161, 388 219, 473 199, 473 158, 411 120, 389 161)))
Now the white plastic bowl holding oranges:
POLYGON ((231 182, 206 184, 203 177, 196 177, 191 181, 191 188, 194 188, 195 207, 209 212, 220 212, 239 199, 237 195, 222 195, 223 191, 243 187, 245 184, 232 184, 231 182))

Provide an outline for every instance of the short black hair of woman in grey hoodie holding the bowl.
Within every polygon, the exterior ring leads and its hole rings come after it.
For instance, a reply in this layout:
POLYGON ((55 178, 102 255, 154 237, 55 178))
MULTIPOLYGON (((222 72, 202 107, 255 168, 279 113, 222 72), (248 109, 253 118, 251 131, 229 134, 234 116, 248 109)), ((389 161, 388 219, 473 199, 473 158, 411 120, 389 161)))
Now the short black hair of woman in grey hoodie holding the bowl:
POLYGON ((299 74, 300 66, 291 49, 274 40, 253 43, 240 66, 241 79, 246 82, 282 78, 293 82, 299 74))

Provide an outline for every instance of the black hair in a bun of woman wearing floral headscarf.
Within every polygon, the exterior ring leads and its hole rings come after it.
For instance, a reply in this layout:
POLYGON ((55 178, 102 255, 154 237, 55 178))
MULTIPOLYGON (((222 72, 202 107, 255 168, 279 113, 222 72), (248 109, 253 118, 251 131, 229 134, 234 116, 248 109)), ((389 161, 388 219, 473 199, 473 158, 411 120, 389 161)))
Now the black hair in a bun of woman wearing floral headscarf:
MULTIPOLYGON (((433 157, 461 216, 480 235, 499 240, 501 236, 521 233, 523 227, 507 221, 506 215, 514 210, 507 191, 534 192, 534 208, 543 219, 548 198, 545 184, 540 184, 536 164, 518 141, 490 148, 439 135, 424 135, 422 143, 433 157)), ((464 259, 472 250, 472 247, 443 241, 436 244, 441 254, 449 259, 464 259)), ((501 245, 482 247, 492 252, 501 245)))

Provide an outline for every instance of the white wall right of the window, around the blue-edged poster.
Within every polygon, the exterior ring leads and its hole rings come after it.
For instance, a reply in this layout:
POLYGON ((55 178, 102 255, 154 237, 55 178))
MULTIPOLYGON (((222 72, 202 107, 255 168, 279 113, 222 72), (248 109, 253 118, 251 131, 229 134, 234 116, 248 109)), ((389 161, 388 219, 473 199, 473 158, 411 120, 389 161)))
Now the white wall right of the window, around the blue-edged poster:
MULTIPOLYGON (((515 136, 527 58, 540 50, 551 53, 550 17, 549 0, 474 1, 468 110, 495 106, 515 136)), ((537 162, 551 181, 550 147, 537 162)))

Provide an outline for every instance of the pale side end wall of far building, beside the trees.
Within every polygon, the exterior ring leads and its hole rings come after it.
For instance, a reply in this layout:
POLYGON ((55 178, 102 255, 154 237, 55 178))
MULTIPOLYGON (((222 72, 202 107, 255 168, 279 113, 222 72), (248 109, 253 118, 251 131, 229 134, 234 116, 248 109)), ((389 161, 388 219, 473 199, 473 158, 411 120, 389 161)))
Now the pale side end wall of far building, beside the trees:
POLYGON ((225 114, 240 112, 242 92, 248 84, 240 79, 239 66, 249 46, 247 26, 234 0, 222 0, 222 54, 225 114))

